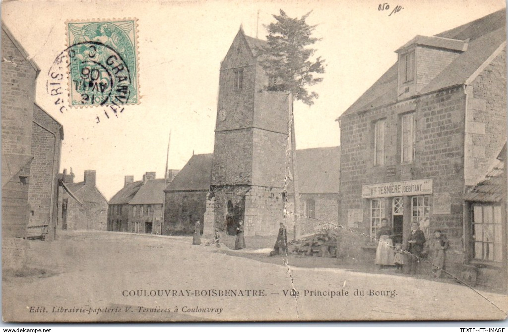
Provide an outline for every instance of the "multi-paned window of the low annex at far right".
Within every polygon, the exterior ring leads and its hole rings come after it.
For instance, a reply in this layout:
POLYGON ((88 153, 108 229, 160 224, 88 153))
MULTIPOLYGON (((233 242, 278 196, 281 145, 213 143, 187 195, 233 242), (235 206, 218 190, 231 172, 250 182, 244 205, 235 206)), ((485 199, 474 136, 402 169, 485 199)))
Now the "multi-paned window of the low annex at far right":
POLYGON ((473 258, 502 261, 501 206, 473 206, 473 258))

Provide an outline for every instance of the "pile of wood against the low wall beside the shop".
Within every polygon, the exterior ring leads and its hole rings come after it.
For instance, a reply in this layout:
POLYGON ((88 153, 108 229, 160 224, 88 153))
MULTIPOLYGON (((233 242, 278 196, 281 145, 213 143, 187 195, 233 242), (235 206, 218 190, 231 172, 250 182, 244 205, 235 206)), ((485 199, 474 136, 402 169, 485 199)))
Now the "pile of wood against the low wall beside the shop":
POLYGON ((288 252, 323 257, 337 256, 337 233, 327 230, 289 242, 288 252))

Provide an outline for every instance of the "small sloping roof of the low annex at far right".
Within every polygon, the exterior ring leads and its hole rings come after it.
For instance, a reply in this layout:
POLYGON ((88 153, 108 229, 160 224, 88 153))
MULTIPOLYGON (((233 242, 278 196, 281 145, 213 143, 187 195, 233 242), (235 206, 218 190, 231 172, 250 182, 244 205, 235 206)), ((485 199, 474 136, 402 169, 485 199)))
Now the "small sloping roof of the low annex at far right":
POLYGON ((503 201, 504 165, 497 161, 487 173, 485 179, 479 182, 464 198, 467 201, 501 202, 503 201))

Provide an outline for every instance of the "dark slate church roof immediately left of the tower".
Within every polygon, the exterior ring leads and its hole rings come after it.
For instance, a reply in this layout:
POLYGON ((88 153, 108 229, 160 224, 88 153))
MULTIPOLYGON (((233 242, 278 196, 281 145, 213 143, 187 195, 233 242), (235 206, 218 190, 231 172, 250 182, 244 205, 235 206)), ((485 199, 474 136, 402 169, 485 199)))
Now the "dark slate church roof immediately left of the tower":
POLYGON ((193 155, 164 191, 208 191, 213 154, 193 155))

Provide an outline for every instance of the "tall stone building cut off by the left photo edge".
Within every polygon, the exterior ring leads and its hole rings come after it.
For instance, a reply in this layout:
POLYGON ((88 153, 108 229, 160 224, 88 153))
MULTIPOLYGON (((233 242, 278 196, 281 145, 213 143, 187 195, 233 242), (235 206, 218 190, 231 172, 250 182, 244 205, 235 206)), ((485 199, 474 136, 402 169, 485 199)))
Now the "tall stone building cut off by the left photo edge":
POLYGON ((63 130, 34 104, 40 69, 4 23, 2 59, 2 235, 51 240, 63 130))

